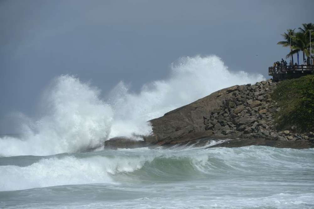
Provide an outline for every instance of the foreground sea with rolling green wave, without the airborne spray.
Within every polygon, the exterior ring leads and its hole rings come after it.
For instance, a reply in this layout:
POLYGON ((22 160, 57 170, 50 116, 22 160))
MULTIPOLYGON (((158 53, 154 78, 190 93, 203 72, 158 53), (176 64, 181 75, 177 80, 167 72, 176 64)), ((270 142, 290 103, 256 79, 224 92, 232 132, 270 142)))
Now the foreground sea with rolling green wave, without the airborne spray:
POLYGON ((314 208, 314 149, 138 148, 0 158, 0 208, 314 208))

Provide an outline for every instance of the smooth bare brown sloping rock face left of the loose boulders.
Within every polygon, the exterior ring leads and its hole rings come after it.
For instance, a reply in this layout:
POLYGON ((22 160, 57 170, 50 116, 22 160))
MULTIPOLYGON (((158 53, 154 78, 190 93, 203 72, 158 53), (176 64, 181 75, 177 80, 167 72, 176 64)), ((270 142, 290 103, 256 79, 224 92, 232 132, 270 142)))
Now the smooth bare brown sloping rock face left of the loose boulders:
MULTIPOLYGON (((231 100, 232 93, 237 88, 238 85, 221 89, 191 104, 172 110, 160 118, 149 121, 152 125, 155 141, 162 145, 210 136, 213 133, 206 130, 203 116, 214 111, 219 112, 217 110, 221 110, 223 101, 231 100), (178 127, 181 128, 178 129, 178 127)), ((231 105, 233 104, 231 103, 231 105)), ((215 130, 221 128, 220 124, 220 127, 217 125, 218 123, 211 124, 215 130)))

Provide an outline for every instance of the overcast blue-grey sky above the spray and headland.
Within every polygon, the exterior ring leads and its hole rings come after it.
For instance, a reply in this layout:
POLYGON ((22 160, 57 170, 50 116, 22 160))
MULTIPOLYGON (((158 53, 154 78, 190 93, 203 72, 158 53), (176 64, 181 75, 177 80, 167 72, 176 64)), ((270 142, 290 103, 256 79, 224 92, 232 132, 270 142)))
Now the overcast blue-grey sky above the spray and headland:
POLYGON ((66 73, 104 94, 120 80, 137 91, 181 56, 215 54, 231 71, 266 77, 289 50, 276 45, 280 34, 314 22, 313 8, 312 0, 2 0, 0 118, 34 115, 42 89, 66 73))

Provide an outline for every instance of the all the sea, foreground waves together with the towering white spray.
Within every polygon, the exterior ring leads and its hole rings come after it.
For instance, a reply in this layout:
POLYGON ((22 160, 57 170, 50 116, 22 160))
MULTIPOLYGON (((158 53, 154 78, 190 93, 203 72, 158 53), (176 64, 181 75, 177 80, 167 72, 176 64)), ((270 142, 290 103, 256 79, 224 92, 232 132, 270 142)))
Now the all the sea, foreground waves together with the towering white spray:
POLYGON ((11 113, 18 135, 0 136, 0 208, 314 207, 313 149, 103 147, 139 140, 152 131, 147 121, 221 88, 264 79, 217 56, 183 57, 138 93, 120 82, 101 94, 61 75, 36 116, 11 113))

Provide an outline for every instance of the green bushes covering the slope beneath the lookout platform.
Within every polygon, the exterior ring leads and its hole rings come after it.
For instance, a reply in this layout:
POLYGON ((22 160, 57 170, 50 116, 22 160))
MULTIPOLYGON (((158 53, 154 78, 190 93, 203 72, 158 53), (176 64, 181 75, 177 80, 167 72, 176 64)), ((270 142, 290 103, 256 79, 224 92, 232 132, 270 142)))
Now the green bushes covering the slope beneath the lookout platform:
POLYGON ((281 81, 271 96, 280 107, 275 115, 279 130, 314 130, 314 75, 281 81))

